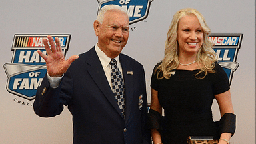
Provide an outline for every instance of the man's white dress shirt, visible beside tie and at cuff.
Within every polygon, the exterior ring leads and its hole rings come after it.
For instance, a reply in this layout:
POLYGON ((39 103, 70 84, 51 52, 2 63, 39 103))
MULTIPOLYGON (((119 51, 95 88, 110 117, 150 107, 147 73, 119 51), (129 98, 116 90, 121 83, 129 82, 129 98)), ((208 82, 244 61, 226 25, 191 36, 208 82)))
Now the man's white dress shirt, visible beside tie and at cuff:
MULTIPOLYGON (((107 77, 107 81, 109 82, 109 86, 111 87, 111 76, 110 76, 111 75, 110 74, 111 65, 109 64, 111 61, 111 58, 107 57, 107 55, 103 51, 101 51, 101 49, 99 49, 98 43, 96 43, 96 45, 95 45, 95 51, 99 57, 99 61, 101 61, 101 65, 102 65, 105 75, 107 77)), ((122 69, 121 63, 119 61, 119 56, 115 57, 115 60, 117 61, 117 67, 118 67, 119 71, 121 71, 122 77, 123 77, 123 69, 122 69)), ((62 77, 50 77, 47 73, 47 78, 49 80, 50 86, 52 88, 57 88, 57 87, 59 87, 59 83, 61 82, 61 79, 63 78, 63 76, 62 77)), ((124 79, 123 79, 123 81, 124 81, 124 79)), ((112 89, 112 87, 111 87, 111 89, 112 89)))

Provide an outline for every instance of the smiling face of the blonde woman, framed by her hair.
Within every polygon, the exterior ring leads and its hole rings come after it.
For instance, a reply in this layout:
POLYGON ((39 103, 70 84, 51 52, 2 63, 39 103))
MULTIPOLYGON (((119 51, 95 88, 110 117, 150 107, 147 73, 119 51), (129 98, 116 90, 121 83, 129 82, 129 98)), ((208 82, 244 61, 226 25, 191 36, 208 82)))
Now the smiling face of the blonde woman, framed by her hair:
POLYGON ((179 19, 177 28, 179 55, 197 55, 203 44, 203 29, 195 15, 179 19))

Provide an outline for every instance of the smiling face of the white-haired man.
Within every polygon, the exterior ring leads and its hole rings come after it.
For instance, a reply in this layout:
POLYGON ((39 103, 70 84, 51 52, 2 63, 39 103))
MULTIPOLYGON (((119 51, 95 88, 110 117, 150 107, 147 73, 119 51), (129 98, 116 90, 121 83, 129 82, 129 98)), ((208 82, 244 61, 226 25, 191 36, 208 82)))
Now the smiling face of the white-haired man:
POLYGON ((98 46, 108 57, 115 58, 125 47, 129 37, 129 19, 121 11, 111 10, 105 13, 102 24, 95 21, 95 34, 98 46))

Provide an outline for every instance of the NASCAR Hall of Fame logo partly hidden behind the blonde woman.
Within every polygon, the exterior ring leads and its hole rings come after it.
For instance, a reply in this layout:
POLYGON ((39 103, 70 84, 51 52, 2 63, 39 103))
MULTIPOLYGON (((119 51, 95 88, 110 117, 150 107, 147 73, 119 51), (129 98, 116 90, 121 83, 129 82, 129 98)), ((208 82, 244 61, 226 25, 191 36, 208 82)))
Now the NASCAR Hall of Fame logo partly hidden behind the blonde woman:
POLYGON ((243 34, 211 34, 209 40, 213 43, 213 49, 217 53, 218 63, 223 67, 231 84, 233 73, 237 70, 238 50, 241 47, 243 34))

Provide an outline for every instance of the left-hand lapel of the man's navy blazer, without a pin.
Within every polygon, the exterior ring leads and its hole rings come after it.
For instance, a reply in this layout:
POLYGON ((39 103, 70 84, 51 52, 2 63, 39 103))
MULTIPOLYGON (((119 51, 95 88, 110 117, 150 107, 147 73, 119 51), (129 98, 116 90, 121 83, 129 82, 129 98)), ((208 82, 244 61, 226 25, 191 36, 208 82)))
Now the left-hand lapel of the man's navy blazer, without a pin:
POLYGON ((105 76, 105 72, 102 68, 101 61, 99 61, 99 57, 95 51, 95 47, 93 47, 93 49, 89 51, 89 57, 88 59, 86 59, 85 62, 90 65, 87 71, 89 72, 99 89, 101 89, 102 93, 105 95, 105 97, 107 97, 111 105, 113 105, 113 107, 117 110, 120 116, 123 117, 107 81, 107 77, 105 76))

